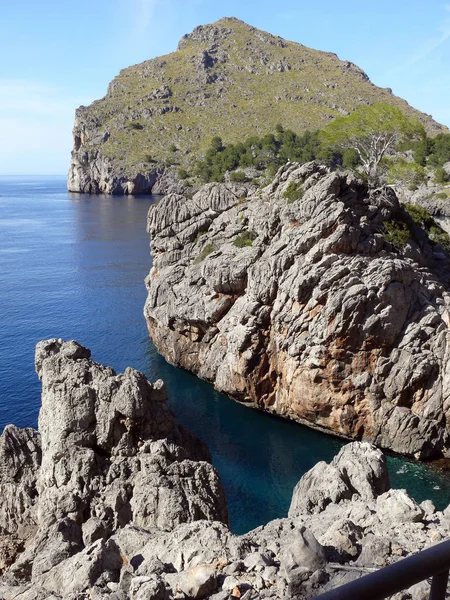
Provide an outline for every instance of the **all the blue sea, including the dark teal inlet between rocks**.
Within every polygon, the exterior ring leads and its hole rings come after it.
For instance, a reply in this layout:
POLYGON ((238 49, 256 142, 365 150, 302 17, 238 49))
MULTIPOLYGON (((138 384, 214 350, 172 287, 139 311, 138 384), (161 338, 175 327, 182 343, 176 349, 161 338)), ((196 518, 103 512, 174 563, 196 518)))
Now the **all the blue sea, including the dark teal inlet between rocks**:
MULTIPOLYGON (((286 516, 299 478, 343 442, 241 406, 158 355, 142 313, 156 200, 68 194, 63 177, 0 177, 0 428, 37 424, 36 343, 76 339, 117 371, 164 379, 178 421, 208 443, 242 533, 286 516)), ((431 467, 388 461, 393 486, 449 504, 450 482, 431 467)))

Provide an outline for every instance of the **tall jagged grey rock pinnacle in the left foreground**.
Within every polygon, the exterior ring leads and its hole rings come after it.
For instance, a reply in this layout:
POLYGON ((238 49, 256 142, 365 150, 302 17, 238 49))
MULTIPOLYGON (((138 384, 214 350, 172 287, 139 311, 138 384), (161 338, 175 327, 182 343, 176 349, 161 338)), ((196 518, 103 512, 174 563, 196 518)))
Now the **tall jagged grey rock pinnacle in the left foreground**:
MULTIPOLYGON (((152 385, 133 369, 116 375, 76 342, 40 342, 36 365, 41 526, 64 517, 78 523, 95 517, 113 529, 130 522, 163 529, 195 518, 226 522, 217 474, 209 463, 191 460, 183 441, 193 436, 176 425, 162 382, 152 385)), ((195 443, 193 458, 208 458, 195 443)))

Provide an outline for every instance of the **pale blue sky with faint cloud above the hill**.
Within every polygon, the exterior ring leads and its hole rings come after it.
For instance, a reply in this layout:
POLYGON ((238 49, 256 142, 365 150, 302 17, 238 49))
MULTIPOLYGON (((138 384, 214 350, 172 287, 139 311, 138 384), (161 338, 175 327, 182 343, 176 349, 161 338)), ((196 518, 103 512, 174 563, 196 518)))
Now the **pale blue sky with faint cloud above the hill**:
POLYGON ((450 126, 450 4, 437 0, 15 0, 0 21, 0 174, 65 173, 75 108, 118 71, 235 16, 336 52, 450 126))

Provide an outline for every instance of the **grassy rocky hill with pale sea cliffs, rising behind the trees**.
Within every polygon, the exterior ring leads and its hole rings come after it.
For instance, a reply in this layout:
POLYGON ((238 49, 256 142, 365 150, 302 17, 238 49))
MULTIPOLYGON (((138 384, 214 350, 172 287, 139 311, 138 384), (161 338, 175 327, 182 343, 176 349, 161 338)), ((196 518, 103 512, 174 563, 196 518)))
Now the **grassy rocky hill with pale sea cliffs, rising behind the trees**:
POLYGON ((277 123, 321 129, 375 102, 418 117, 430 135, 446 131, 353 63, 223 18, 196 27, 175 52, 122 70, 104 98, 77 109, 68 188, 159 193, 213 136, 238 142, 277 123))

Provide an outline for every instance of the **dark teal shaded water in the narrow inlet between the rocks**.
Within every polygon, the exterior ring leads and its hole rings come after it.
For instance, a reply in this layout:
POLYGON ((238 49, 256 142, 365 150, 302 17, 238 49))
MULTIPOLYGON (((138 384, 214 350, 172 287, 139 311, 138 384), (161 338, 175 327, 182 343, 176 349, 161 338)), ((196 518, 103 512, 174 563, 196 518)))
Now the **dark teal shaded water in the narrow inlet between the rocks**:
MULTIPOLYGON (((233 531, 287 516, 292 490, 317 462, 329 462, 344 441, 247 408, 209 383, 168 364, 149 341, 146 374, 166 382, 178 421, 209 446, 225 486, 233 531)), ((391 484, 438 508, 450 502, 450 481, 431 467, 388 456, 391 484)))

